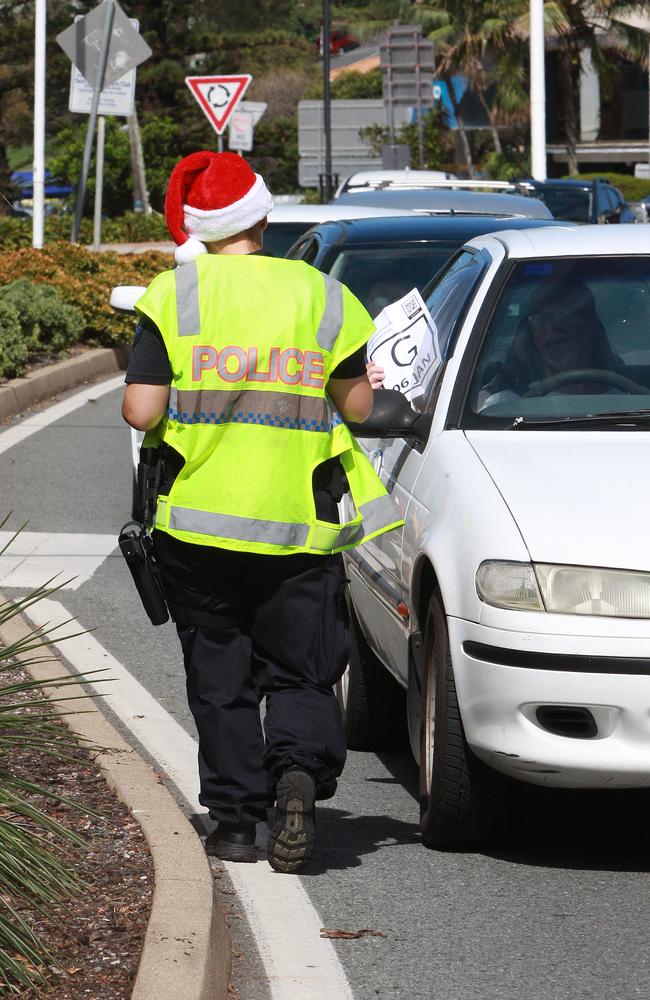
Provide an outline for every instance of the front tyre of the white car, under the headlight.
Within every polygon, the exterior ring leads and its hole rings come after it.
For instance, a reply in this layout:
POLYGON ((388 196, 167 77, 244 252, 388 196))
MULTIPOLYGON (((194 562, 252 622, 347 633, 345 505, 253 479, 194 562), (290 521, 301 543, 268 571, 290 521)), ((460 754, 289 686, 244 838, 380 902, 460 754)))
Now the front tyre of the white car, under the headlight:
POLYGON ((511 784, 470 750, 460 716, 447 618, 439 594, 425 629, 420 753, 420 828, 428 847, 503 847, 510 828, 511 784))

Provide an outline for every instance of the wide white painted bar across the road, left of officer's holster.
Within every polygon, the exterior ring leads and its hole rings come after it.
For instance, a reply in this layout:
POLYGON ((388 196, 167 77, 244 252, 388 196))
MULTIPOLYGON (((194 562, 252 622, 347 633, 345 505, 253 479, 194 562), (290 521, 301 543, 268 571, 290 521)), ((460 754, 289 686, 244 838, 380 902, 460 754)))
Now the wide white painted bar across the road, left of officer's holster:
POLYGON ((32 590, 54 578, 61 590, 78 590, 116 547, 115 535, 0 531, 0 587, 32 590))

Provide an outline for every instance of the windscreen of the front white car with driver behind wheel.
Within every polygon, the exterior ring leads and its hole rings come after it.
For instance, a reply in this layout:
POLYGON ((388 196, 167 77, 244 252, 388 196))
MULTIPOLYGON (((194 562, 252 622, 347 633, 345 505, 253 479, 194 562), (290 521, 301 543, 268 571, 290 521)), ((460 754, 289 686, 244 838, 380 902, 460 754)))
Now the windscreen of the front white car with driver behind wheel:
POLYGON ((485 330, 462 417, 508 427, 650 411, 650 256, 525 260, 485 330))

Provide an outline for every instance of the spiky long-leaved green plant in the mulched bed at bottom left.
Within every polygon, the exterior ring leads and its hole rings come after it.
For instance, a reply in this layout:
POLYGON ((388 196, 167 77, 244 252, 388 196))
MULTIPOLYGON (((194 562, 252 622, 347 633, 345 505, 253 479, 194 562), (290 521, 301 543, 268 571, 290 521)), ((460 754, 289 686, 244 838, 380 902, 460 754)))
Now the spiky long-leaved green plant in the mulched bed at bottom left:
MULTIPOLYGON (((7 520, 0 523, 0 529, 7 520)), ((17 534, 0 549, 0 555, 17 534)), ((50 580, 20 600, 0 603, 0 625, 6 625, 63 585, 50 580)), ((9 676, 18 661, 25 668, 56 661, 56 657, 46 655, 53 641, 47 628, 35 628, 11 644, 0 646, 0 993, 4 987, 14 995, 42 986, 52 966, 44 941, 17 908, 22 903, 47 913, 48 907, 70 898, 84 885, 70 864, 70 852, 85 846, 83 838, 49 816, 37 804, 38 799, 54 800, 96 815, 71 799, 16 777, 8 766, 21 751, 57 760, 80 756, 79 739, 57 724, 53 699, 46 697, 43 687, 46 683, 57 688, 78 684, 88 675, 54 677, 47 682, 9 676)))

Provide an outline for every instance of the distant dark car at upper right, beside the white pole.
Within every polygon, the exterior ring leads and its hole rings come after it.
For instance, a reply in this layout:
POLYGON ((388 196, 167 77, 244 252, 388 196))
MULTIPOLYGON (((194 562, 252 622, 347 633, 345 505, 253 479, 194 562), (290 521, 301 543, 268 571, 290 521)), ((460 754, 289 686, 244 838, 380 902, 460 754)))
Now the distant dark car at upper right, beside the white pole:
POLYGON ((524 183, 556 219, 591 224, 636 222, 625 198, 606 177, 524 183))

